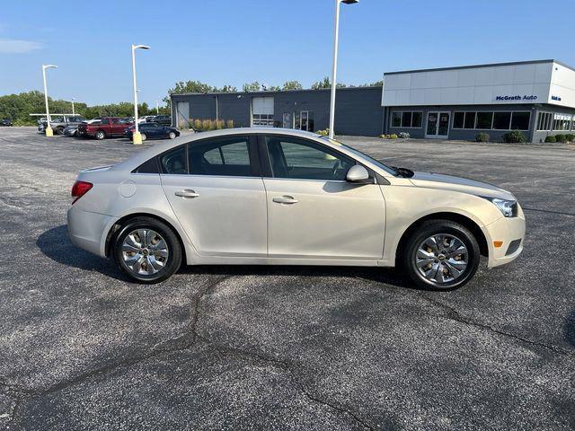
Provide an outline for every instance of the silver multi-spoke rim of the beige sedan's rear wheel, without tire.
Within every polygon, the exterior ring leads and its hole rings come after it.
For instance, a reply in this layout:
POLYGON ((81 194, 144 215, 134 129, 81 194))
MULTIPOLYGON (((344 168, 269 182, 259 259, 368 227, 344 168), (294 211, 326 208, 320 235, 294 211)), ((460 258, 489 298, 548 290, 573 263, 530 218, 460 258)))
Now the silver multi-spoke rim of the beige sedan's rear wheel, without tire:
POLYGON ((121 250, 124 264, 137 276, 153 276, 165 268, 170 252, 167 243, 152 229, 128 233, 121 250))

